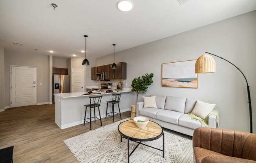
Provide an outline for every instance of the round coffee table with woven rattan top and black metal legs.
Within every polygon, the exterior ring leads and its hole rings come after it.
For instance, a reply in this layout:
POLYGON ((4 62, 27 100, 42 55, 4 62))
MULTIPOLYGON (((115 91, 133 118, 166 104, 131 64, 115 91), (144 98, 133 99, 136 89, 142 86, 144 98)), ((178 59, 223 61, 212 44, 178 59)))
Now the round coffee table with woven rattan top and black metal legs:
POLYGON ((153 141, 161 138, 161 136, 163 136, 163 149, 157 149, 155 147, 151 148, 161 150, 163 152, 163 158, 165 158, 165 133, 163 132, 163 128, 159 124, 153 121, 149 121, 145 128, 140 129, 139 127, 137 127, 133 120, 127 120, 121 122, 118 125, 118 132, 121 135, 121 142, 122 138, 127 139, 128 163, 130 162, 130 156, 140 144, 151 147, 149 145, 141 143, 142 141, 153 141), (138 143, 131 153, 129 149, 130 141, 138 143))

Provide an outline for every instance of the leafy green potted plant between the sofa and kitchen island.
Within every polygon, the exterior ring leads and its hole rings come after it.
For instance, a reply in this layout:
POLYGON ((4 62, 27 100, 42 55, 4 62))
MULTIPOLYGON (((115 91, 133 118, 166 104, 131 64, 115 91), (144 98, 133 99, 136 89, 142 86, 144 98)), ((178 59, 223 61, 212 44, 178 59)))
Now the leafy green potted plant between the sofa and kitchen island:
MULTIPOLYGON (((148 86, 151 85, 151 83, 153 83, 153 78, 154 74, 145 74, 143 76, 139 76, 138 78, 135 78, 132 80, 132 91, 136 92, 137 96, 137 100, 136 103, 138 102, 138 96, 139 93, 146 93, 148 86)), ((131 118, 133 119, 136 116, 136 105, 132 105, 132 114, 131 114, 131 118)))

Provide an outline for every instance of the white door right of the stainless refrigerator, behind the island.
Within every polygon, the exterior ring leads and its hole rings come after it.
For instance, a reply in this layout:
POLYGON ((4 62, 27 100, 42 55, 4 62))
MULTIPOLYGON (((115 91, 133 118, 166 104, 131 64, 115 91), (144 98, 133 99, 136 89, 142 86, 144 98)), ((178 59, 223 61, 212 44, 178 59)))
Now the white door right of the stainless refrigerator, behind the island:
POLYGON ((72 69, 72 92, 84 90, 84 69, 72 69))

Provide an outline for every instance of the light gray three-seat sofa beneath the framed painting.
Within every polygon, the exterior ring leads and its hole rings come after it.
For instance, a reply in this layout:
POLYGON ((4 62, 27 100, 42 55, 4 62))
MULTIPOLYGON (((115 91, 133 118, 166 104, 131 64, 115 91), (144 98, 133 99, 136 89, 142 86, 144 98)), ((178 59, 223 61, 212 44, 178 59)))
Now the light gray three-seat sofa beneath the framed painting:
MULTIPOLYGON (((154 121, 162 127, 183 134, 193 136, 196 128, 202 127, 198 121, 192 120, 188 113, 190 113, 196 100, 172 97, 172 96, 156 96, 157 108, 144 108, 144 102, 137 103, 137 116, 147 117, 149 120, 154 121)), ((216 128, 216 116, 210 115, 208 125, 211 128, 216 128)))

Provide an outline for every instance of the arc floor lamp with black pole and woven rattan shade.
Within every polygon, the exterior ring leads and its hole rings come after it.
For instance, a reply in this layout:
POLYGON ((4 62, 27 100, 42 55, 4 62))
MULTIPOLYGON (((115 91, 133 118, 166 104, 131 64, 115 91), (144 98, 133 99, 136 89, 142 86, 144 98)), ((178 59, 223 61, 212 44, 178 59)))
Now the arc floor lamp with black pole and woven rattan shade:
MULTIPOLYGON (((218 58, 221 58, 227 62, 229 62, 228 60, 217 56, 215 54, 212 53, 208 53, 205 52, 207 54, 203 54, 201 55, 197 60, 196 60, 196 73, 214 73, 216 72, 216 62, 214 60, 214 58, 210 55, 216 56, 218 58), (208 55, 210 54, 210 55, 208 55)), ((242 74, 243 72, 233 63, 229 62, 231 65, 233 65, 234 67, 236 67, 238 69, 238 71, 240 71, 242 74)), ((243 77, 245 78, 245 82, 247 84, 247 94, 248 94, 248 103, 249 103, 249 114, 250 114, 250 132, 252 133, 252 102, 251 102, 251 93, 250 93, 250 86, 248 85, 247 79, 245 77, 245 74, 243 74, 243 77)))

